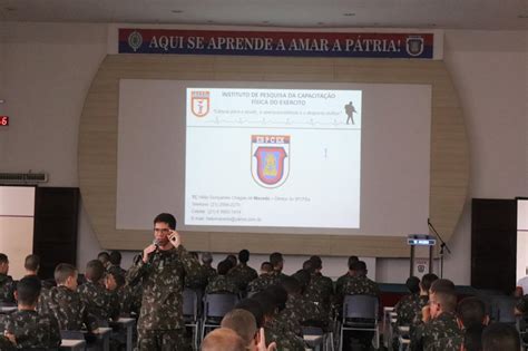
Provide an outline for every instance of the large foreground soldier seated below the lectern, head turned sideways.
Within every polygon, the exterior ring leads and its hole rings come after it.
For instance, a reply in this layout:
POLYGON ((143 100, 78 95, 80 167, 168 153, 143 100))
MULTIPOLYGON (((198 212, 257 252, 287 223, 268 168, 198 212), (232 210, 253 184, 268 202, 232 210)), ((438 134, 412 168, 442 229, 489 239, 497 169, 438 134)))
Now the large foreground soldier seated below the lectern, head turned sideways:
POLYGON ((457 323, 456 308, 454 284, 444 279, 434 281, 429 305, 422 310, 422 323, 417 325, 411 335, 412 350, 434 350, 438 343, 443 345, 443 350, 460 350, 462 331, 457 323))

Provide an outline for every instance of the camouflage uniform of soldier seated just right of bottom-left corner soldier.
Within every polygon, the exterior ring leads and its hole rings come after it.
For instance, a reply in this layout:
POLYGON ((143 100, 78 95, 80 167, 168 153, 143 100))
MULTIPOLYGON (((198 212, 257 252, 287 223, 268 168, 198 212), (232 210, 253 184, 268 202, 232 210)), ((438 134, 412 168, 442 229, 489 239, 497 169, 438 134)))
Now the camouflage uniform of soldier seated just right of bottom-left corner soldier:
POLYGON ((66 286, 53 286, 42 291, 38 303, 39 314, 53 316, 60 330, 88 330, 98 328, 97 320, 88 314, 80 295, 66 286))

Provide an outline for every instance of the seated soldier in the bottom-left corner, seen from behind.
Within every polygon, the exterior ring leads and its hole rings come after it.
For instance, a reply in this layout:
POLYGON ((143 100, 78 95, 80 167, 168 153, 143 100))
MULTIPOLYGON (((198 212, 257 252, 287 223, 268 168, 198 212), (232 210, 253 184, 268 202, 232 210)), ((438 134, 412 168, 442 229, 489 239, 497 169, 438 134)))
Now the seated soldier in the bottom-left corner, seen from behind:
POLYGON ((14 292, 18 311, 0 315, 0 333, 13 335, 17 349, 58 350, 59 348, 60 331, 57 320, 36 311, 40 289, 40 280, 37 276, 22 277, 14 292))

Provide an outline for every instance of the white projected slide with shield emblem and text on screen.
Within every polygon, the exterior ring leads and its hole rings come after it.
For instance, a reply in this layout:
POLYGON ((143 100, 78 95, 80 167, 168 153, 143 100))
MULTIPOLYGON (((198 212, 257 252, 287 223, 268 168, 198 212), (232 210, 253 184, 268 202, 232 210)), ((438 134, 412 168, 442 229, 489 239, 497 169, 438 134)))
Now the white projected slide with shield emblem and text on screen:
POLYGON ((361 90, 186 89, 185 225, 360 227, 361 90))

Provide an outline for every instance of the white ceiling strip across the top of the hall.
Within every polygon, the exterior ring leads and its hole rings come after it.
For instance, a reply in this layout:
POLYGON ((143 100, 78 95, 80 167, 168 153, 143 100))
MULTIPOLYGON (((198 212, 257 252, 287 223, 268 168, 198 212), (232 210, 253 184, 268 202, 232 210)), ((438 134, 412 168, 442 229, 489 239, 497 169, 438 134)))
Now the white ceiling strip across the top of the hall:
POLYGON ((0 0, 0 21, 528 29, 528 0, 0 0))

